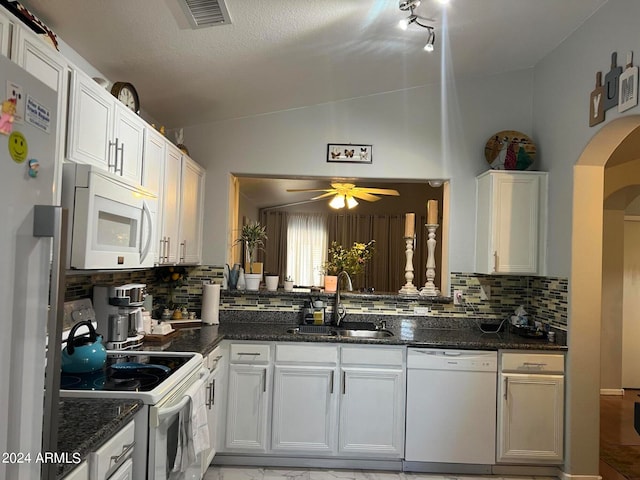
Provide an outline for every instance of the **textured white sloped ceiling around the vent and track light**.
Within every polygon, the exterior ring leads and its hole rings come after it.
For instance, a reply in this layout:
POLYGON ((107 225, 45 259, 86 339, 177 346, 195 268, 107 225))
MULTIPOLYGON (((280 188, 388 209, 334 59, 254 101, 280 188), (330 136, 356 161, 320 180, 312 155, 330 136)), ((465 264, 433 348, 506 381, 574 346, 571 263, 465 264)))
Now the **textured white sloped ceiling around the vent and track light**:
POLYGON ((22 0, 169 128, 532 67, 606 0, 423 0, 436 24, 397 28, 397 0, 226 0, 194 30, 178 0, 22 0), (443 54, 444 51, 444 54, 443 54))

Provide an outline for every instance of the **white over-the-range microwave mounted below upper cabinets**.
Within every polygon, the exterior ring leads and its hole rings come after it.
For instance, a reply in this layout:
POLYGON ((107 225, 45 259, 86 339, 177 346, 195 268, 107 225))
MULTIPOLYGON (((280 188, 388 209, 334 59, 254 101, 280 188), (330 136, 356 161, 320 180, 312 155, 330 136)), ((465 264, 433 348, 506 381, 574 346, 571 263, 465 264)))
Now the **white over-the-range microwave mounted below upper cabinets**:
POLYGON ((153 267, 157 195, 94 166, 65 163, 62 206, 69 210, 67 268, 153 267))

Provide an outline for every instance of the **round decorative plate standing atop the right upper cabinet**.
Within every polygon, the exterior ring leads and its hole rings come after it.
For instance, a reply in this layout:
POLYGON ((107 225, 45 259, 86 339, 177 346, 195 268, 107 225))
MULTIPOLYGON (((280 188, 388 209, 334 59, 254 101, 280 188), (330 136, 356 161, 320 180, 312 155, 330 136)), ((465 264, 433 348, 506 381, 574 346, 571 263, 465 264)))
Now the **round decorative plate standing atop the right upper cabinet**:
POLYGON ((487 140, 484 156, 494 170, 529 170, 536 159, 536 146, 522 132, 503 130, 487 140))

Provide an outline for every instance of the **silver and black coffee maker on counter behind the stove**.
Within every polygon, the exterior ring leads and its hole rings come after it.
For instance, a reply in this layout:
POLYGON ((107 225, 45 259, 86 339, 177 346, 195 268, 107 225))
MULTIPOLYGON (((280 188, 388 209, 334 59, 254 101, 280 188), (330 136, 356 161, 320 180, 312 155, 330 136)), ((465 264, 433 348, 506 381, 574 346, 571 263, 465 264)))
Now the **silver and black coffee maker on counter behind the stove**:
POLYGON ((146 290, 143 283, 93 287, 97 330, 105 337, 107 349, 129 350, 142 345, 142 305, 146 290))

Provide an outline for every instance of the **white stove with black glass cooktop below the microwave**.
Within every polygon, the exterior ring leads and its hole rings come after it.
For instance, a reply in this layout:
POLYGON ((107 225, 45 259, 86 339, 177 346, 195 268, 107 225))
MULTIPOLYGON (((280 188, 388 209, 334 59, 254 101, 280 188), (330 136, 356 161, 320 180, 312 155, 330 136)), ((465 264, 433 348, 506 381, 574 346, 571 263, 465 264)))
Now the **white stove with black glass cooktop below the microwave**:
MULTIPOLYGON (((84 319, 91 321, 92 317, 95 318, 93 309, 87 310, 86 304, 81 302, 78 301, 78 308, 83 309, 84 319)), ((191 399, 198 392, 203 392, 207 398, 209 370, 202 355, 195 352, 107 350, 107 364, 104 372, 63 374, 60 396, 141 400, 143 406, 135 417, 132 478, 200 480, 200 455, 184 472, 171 475, 171 470, 178 451, 180 418, 190 415, 191 399), (128 368, 132 363, 137 365, 135 369, 128 368), (119 364, 124 369, 118 367, 119 364), (160 368, 157 365, 162 367, 160 373, 157 373, 160 368), (170 373, 166 372, 165 366, 171 369, 170 373), (132 383, 134 380, 137 383, 132 383)))

